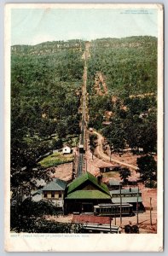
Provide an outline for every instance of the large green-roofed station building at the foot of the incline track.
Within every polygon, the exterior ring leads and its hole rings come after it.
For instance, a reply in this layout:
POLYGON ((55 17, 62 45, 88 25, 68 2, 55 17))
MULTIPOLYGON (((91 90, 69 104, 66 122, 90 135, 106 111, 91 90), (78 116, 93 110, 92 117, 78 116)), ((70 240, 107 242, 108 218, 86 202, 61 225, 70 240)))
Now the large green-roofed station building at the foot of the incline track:
POLYGON ((107 185, 101 183, 101 177, 94 177, 85 172, 67 185, 65 195, 65 212, 94 212, 99 203, 111 203, 107 185))

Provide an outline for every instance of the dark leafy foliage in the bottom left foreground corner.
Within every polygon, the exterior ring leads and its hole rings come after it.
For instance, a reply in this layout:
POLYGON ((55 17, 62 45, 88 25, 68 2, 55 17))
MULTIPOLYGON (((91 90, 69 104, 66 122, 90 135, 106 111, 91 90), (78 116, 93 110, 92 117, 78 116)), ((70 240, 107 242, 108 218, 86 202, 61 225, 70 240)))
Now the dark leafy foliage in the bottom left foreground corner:
POLYGON ((84 233, 82 224, 56 223, 43 218, 57 216, 57 208, 49 202, 26 199, 20 206, 11 207, 11 231, 20 233, 84 233))

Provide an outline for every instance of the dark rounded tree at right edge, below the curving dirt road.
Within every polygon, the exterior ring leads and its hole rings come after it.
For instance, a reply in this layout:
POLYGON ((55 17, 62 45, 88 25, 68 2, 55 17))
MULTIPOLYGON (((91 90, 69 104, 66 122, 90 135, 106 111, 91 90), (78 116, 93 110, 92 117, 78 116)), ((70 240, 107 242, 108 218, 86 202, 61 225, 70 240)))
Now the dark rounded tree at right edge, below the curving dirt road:
POLYGON ((147 154, 138 158, 136 163, 142 180, 148 187, 153 188, 157 180, 157 164, 154 160, 154 156, 147 154))

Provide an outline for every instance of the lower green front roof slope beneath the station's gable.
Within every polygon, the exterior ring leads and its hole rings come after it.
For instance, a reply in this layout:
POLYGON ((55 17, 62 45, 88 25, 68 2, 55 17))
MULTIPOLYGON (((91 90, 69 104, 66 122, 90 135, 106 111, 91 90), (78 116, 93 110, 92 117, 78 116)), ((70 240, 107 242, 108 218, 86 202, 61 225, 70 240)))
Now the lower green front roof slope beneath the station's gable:
POLYGON ((69 195, 66 199, 109 199, 111 196, 107 195, 100 190, 76 190, 69 195))

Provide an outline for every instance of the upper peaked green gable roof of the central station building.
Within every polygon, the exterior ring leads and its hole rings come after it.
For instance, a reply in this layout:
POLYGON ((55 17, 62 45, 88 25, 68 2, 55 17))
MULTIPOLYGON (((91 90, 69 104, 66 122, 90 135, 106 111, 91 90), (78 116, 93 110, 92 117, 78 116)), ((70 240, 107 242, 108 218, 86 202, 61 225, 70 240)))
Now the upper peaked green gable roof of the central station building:
POLYGON ((109 190, 107 188, 107 185, 104 183, 101 183, 100 185, 97 182, 97 178, 93 176, 90 172, 85 172, 82 176, 74 179, 72 183, 69 183, 67 185, 67 194, 72 193, 72 191, 78 189, 78 187, 84 183, 85 181, 89 180, 91 183, 95 184, 97 189, 100 189, 102 192, 109 195, 109 190))

